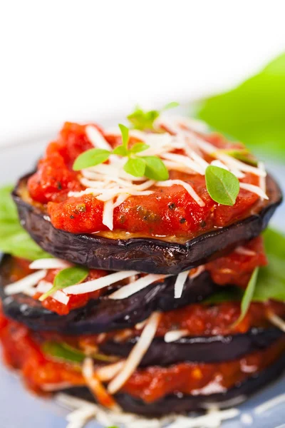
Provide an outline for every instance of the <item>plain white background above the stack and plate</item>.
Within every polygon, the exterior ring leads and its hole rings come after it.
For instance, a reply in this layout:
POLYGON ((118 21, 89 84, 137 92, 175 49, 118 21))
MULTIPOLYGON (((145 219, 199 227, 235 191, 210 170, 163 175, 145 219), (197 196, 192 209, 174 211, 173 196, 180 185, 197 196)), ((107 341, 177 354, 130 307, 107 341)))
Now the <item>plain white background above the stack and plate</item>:
POLYGON ((188 101, 285 49, 284 1, 1 0, 0 143, 188 101))

